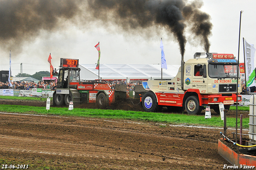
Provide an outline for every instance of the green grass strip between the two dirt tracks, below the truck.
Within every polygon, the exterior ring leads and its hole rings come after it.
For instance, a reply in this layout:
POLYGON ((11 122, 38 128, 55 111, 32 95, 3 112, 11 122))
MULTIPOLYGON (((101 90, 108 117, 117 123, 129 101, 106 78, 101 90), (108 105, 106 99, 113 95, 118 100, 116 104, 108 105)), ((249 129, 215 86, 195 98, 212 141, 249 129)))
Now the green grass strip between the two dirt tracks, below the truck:
MULTIPOLYGON (((125 119, 125 120, 143 120, 149 122, 158 122, 164 124, 183 124, 194 126, 207 127, 223 127, 223 120, 220 116, 212 116, 210 119, 205 119, 204 115, 188 115, 188 114, 166 114, 153 112, 136 112, 126 110, 101 110, 101 109, 84 109, 74 108, 56 108, 35 106, 16 106, 16 105, 0 105, 0 112, 21 113, 21 114, 42 114, 42 115, 58 115, 58 116, 79 116, 93 118, 110 118, 110 119, 125 119)), ((249 118, 243 119, 243 128, 249 128, 249 118)), ((238 120, 240 125, 240 119, 238 120)), ((227 118, 227 127, 236 127, 236 118, 227 118)))

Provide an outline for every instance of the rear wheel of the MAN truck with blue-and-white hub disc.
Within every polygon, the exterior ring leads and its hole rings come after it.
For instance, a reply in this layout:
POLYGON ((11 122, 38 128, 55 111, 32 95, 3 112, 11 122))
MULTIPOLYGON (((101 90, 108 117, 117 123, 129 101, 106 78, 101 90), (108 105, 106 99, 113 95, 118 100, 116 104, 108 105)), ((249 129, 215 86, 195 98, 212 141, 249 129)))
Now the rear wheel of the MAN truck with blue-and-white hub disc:
POLYGON ((153 92, 147 92, 142 99, 142 107, 146 112, 158 112, 158 103, 153 92))

